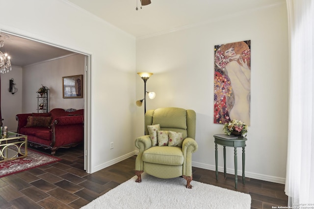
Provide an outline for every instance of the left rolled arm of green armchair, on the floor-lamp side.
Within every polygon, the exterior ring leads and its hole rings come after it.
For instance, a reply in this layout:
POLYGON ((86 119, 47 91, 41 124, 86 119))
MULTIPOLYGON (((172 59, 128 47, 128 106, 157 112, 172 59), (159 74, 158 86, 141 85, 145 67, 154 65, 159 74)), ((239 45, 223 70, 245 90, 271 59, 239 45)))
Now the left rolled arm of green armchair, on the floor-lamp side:
POLYGON ((143 152, 148 148, 152 147, 152 141, 149 135, 138 137, 135 139, 135 146, 139 149, 136 160, 135 160, 135 170, 143 171, 143 152))

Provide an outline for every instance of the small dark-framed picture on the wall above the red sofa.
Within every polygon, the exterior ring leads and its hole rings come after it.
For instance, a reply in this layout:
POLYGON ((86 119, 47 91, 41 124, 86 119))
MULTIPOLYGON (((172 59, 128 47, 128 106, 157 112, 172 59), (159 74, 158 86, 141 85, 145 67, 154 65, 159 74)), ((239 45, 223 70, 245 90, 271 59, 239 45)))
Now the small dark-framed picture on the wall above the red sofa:
POLYGON ((83 98, 83 75, 62 77, 63 98, 83 98))

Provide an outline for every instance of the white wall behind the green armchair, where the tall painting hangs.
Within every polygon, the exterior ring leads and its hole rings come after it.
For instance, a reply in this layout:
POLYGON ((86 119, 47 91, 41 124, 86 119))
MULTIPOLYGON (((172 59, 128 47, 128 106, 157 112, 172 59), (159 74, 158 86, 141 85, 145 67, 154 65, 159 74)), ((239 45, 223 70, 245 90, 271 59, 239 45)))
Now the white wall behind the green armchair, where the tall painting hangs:
MULTIPOLYGON (((288 129, 288 23, 285 4, 244 11, 184 30, 139 39, 136 70, 154 75, 147 91, 147 109, 182 107, 197 114, 199 149, 193 165, 215 169, 213 123, 214 46, 251 40, 251 126, 247 135, 246 176, 284 183, 288 129)), ((143 97, 143 81, 136 77, 136 98, 143 97)), ((136 135, 143 135, 143 107, 137 109, 136 135)), ((219 146, 219 166, 223 167, 219 146)), ((227 148, 227 168, 234 173, 234 150, 227 148)), ((238 149, 238 174, 242 172, 238 149)))

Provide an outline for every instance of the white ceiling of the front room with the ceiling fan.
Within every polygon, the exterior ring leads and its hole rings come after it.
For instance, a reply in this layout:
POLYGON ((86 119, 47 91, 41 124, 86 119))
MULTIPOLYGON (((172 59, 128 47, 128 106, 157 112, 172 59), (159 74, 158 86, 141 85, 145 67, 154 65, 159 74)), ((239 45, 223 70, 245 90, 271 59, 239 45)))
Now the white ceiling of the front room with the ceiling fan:
MULTIPOLYGON (((67 0, 135 37, 207 23, 286 0, 67 0), (136 5, 139 8, 136 10, 136 5)), ((239 20, 241 21, 241 20, 239 20)))

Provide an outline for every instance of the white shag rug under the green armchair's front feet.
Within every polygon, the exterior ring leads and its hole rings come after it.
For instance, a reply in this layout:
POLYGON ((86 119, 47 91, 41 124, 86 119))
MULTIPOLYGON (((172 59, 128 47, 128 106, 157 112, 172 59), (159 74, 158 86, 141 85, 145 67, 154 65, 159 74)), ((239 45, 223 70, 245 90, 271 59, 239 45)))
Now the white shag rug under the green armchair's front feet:
POLYGON ((251 196, 181 178, 158 179, 146 173, 111 189, 81 209, 250 209, 251 196))

